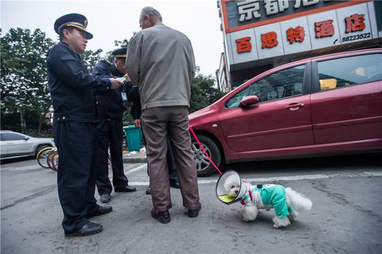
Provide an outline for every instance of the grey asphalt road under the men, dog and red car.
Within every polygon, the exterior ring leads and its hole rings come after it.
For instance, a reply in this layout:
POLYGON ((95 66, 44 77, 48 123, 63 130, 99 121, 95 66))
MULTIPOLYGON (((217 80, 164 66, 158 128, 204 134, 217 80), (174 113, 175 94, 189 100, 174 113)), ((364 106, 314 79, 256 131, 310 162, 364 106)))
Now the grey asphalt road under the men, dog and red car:
MULTIPOLYGON (((218 174, 199 178, 202 210, 187 217, 172 189, 172 221, 150 216, 146 164, 125 164, 133 193, 113 193, 103 232, 65 238, 56 172, 34 160, 1 162, 1 253, 382 253, 382 154, 230 164, 252 183, 279 183, 313 201, 288 228, 273 212, 242 221, 241 205, 215 197, 218 174)), ((96 194, 96 197, 99 196, 96 194)))

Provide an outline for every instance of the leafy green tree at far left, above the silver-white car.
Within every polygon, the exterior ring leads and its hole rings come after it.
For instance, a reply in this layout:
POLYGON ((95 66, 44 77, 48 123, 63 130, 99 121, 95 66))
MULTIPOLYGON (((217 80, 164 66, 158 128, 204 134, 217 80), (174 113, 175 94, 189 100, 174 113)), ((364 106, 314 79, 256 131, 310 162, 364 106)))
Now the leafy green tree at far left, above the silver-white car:
POLYGON ((51 46, 40 29, 11 28, 1 37, 1 115, 38 112, 39 131, 51 105, 45 61, 51 46))

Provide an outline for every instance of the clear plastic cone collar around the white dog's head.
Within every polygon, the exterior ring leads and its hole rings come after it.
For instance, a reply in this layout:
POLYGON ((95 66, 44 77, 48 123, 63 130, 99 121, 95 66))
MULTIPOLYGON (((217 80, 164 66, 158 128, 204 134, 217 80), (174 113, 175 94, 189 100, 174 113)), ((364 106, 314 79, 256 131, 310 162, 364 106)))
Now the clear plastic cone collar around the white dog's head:
POLYGON ((234 170, 226 171, 226 173, 223 173, 222 176, 219 177, 219 180, 217 180, 216 183, 216 196, 219 201, 222 201, 226 205, 231 205, 233 203, 236 203, 240 201, 246 194, 247 188, 245 185, 242 184, 242 179, 240 178, 239 174, 234 170), (236 198, 232 196, 228 196, 226 194, 226 190, 224 189, 224 182, 226 181, 226 178, 228 178, 231 175, 236 175, 240 179, 240 192, 236 198))

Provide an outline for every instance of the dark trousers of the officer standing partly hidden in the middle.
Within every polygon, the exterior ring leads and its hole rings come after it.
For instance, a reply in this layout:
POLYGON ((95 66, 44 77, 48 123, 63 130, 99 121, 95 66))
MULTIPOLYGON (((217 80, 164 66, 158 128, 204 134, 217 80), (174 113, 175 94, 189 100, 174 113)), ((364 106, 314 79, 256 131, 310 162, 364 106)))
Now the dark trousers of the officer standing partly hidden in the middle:
POLYGON ((124 174, 124 162, 122 159, 122 131, 122 121, 99 119, 97 124, 97 189, 99 195, 110 194, 113 190, 108 178, 109 146, 113 169, 113 186, 124 187, 128 184, 128 179, 124 174))

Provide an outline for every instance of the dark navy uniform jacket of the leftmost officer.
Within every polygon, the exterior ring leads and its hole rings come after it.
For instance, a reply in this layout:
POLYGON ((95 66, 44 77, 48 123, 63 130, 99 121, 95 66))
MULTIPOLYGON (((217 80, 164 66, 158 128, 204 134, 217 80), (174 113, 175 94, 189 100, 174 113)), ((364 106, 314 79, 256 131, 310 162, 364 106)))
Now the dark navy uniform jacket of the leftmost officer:
POLYGON ((48 52, 47 70, 53 121, 97 122, 93 89, 109 90, 110 80, 88 74, 80 56, 65 42, 59 42, 48 52))

